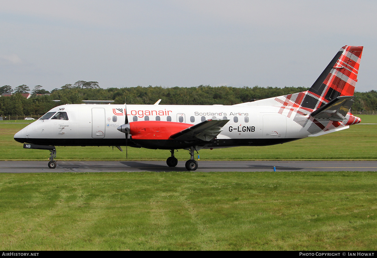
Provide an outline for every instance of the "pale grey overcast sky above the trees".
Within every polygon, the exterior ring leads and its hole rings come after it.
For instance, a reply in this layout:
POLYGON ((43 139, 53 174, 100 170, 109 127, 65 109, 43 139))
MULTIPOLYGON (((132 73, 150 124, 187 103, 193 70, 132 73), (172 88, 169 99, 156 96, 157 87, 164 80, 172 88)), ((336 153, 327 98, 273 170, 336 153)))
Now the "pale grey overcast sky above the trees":
POLYGON ((0 86, 310 87, 364 46, 375 85, 377 1, 0 0, 0 86), (373 61, 375 60, 375 61, 373 61))

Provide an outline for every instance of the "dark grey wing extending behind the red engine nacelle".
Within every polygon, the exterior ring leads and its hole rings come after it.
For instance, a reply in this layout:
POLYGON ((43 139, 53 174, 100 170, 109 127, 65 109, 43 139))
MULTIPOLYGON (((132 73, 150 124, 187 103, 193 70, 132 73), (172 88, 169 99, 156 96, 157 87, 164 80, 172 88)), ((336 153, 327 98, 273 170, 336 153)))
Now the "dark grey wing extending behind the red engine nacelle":
POLYGON ((170 135, 173 140, 190 141, 200 139, 212 141, 222 131, 222 127, 228 123, 229 119, 208 119, 199 124, 195 124, 182 130, 181 132, 170 135))

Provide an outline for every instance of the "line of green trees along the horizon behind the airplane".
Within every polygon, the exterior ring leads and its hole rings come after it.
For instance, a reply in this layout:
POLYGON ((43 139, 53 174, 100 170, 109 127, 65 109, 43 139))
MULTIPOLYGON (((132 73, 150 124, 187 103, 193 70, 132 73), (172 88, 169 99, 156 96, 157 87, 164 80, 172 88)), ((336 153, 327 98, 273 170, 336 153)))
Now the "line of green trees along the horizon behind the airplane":
MULTIPOLYGON (((8 86, 9 90, 9 85, 8 86)), ((5 87, 4 86, 4 87, 5 87)), ((26 85, 21 85, 25 90, 26 85)), ((0 91, 3 87, 0 87, 0 91)), ((29 88, 29 87, 27 87, 29 88)), ((20 88, 18 88, 20 90, 20 88)), ((78 81, 74 85, 66 84, 60 89, 54 89, 51 94, 38 96, 37 94, 48 93, 40 85, 34 88, 29 99, 21 96, 18 91, 8 97, 0 97, 0 115, 43 115, 51 108, 64 104, 80 104, 82 100, 114 100, 114 104, 153 104, 162 99, 160 104, 167 105, 234 105, 250 102, 258 99, 282 96, 286 94, 306 91, 304 87, 211 87, 200 85, 198 87, 130 87, 130 88, 107 88, 98 87, 97 82, 78 81), (36 90, 37 89, 37 90, 36 90), (60 100, 54 102, 53 100, 60 100)), ((377 91, 356 92, 355 103, 352 111, 377 110, 377 91)))

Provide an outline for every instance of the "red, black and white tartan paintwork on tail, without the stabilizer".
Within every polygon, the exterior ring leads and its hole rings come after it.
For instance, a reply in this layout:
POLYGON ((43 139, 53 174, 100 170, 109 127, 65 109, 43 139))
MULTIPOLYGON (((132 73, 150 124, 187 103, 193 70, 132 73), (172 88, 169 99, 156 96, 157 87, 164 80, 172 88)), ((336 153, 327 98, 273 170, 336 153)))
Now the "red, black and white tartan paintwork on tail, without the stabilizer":
POLYGON ((293 120, 311 134, 360 123, 360 118, 348 112, 342 122, 315 119, 309 114, 339 96, 353 96, 357 82, 362 46, 342 47, 308 91, 276 97, 281 104, 279 114, 288 110, 293 120))

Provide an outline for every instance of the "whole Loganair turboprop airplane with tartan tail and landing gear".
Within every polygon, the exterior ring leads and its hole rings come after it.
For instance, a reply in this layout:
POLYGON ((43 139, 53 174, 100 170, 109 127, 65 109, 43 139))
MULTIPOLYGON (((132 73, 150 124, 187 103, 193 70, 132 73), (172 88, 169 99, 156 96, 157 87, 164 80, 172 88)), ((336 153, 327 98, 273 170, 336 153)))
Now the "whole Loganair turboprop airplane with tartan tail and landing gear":
POLYGON ((349 111, 363 47, 344 46, 308 91, 241 103, 211 105, 62 105, 14 135, 24 148, 48 149, 55 168, 57 146, 187 149, 265 146, 336 132, 360 123, 349 111))

